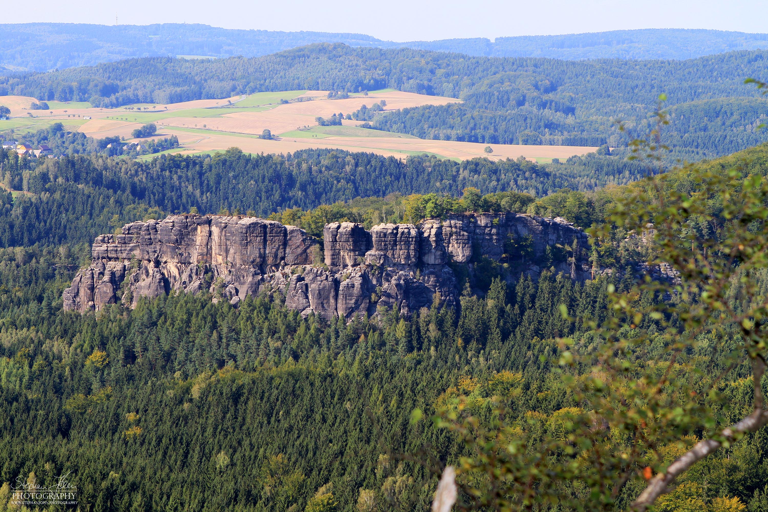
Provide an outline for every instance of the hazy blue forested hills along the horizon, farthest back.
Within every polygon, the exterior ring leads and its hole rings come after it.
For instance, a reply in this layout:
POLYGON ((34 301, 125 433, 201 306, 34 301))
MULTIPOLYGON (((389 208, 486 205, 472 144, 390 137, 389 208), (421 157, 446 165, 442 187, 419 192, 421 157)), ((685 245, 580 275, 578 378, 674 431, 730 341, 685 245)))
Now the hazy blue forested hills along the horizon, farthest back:
POLYGON ((235 30, 178 23, 22 23, 0 25, 0 31, 3 34, 0 66, 17 71, 49 71, 137 57, 260 57, 319 42, 376 48, 419 48, 486 57, 571 60, 685 59, 726 51, 768 48, 766 34, 680 28, 518 36, 496 38, 495 41, 465 38, 409 42, 382 41, 363 34, 235 30))

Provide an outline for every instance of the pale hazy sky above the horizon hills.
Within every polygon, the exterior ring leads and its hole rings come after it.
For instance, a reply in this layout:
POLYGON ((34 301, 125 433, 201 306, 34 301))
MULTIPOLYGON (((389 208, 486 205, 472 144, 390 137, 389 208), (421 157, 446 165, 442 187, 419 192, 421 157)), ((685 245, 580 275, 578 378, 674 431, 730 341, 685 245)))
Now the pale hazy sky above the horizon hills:
POLYGON ((766 0, 38 0, 26 18, 114 25, 204 23, 224 28, 359 32, 392 41, 569 34, 628 28, 768 32, 766 0))

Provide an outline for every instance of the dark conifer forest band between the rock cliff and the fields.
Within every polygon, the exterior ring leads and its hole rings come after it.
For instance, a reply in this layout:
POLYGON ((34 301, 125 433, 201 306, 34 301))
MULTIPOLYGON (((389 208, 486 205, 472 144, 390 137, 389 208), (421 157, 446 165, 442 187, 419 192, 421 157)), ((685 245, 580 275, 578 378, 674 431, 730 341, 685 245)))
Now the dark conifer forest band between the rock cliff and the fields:
MULTIPOLYGON (((468 187, 480 193, 542 197, 564 187, 592 190, 617 179, 629 183, 647 172, 619 157, 574 157, 568 160, 571 164, 553 164, 558 172, 551 173, 527 160, 477 158, 459 163, 418 156, 398 160, 342 150, 248 155, 235 149, 213 157, 164 155, 141 162, 75 153, 91 144, 105 147, 104 140, 58 131, 43 135, 48 140, 55 137, 70 154, 40 161, 0 150, 5 189, 0 190, 2 246, 91 243, 124 223, 192 208, 200 213, 227 210, 268 216, 358 197, 413 193, 461 197, 468 187)), ((402 220, 403 213, 393 205, 381 220, 402 220)))

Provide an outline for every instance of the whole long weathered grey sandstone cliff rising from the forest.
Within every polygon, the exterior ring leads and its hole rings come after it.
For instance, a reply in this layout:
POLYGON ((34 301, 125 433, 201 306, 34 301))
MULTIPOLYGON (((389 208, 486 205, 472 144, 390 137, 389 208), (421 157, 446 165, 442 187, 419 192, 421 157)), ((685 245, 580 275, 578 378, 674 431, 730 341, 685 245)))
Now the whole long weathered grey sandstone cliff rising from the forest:
POLYGON ((455 215, 412 224, 330 223, 323 250, 303 230, 242 216, 176 215, 126 224, 120 235, 94 241, 91 266, 64 292, 65 309, 86 312, 172 290, 207 290, 233 304, 279 292, 303 315, 409 315, 439 296, 458 299, 455 265, 472 280, 483 257, 508 265, 511 276, 537 278, 554 266, 585 279, 587 236, 562 219, 515 213, 455 215), (548 249, 548 247, 550 249, 548 249), (324 257, 323 257, 324 256, 324 257))

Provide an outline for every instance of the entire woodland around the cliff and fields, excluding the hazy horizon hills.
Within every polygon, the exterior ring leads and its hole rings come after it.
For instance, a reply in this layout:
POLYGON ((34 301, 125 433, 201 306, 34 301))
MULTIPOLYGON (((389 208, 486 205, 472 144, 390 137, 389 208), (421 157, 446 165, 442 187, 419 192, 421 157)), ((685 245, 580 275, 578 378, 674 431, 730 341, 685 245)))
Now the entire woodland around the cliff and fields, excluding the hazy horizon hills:
POLYGON ((237 148, 134 160, 53 124, 23 136, 51 158, 0 149, 0 510, 43 510, 14 492, 65 475, 77 504, 45 510, 768 512, 768 85, 743 84, 763 54, 316 45, 0 78, 5 93, 104 107, 392 87, 462 102, 375 127, 601 146, 548 164, 237 148), (646 114, 661 92, 675 100, 646 114), (65 311, 96 236, 177 213, 279 220, 319 243, 336 221, 525 213, 586 230, 588 247, 550 244, 518 275, 508 254, 451 261, 455 306, 435 293, 409 314, 302 315, 286 290, 227 302, 215 286, 65 311), (558 272, 555 251, 588 255, 588 278, 558 272))

